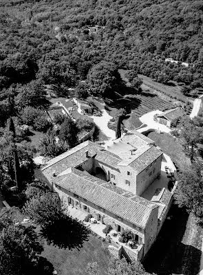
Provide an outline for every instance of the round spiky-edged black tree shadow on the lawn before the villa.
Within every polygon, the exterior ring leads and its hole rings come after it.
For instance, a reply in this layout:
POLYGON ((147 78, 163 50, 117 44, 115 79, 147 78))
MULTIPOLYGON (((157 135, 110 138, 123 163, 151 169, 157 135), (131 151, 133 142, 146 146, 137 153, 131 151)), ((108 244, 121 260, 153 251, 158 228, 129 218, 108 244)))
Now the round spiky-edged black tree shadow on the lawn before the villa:
POLYGON ((50 221, 48 225, 41 228, 41 235, 46 239, 48 245, 52 244, 58 248, 70 250, 82 248, 84 241, 88 241, 89 234, 89 230, 83 223, 66 215, 50 221))

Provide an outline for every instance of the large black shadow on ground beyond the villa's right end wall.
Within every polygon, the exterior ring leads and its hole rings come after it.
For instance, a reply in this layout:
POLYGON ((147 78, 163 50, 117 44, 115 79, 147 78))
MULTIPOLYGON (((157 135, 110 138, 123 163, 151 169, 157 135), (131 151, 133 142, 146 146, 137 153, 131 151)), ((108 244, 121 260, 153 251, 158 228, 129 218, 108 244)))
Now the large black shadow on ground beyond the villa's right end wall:
POLYGON ((173 205, 168 217, 171 219, 164 222, 156 243, 143 261, 145 270, 158 275, 198 274, 201 251, 182 243, 189 215, 173 205))

